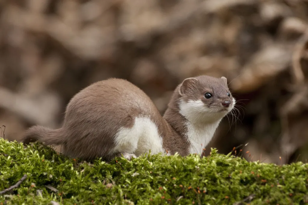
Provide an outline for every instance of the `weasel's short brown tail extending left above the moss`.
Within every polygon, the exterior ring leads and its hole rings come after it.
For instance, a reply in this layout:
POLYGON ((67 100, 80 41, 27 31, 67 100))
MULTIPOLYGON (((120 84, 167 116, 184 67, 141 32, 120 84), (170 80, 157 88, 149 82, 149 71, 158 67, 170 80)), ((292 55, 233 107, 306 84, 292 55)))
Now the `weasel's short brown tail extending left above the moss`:
POLYGON ((22 137, 23 144, 40 141, 47 145, 59 145, 64 143, 62 128, 50 129, 41 125, 30 127, 22 137))

